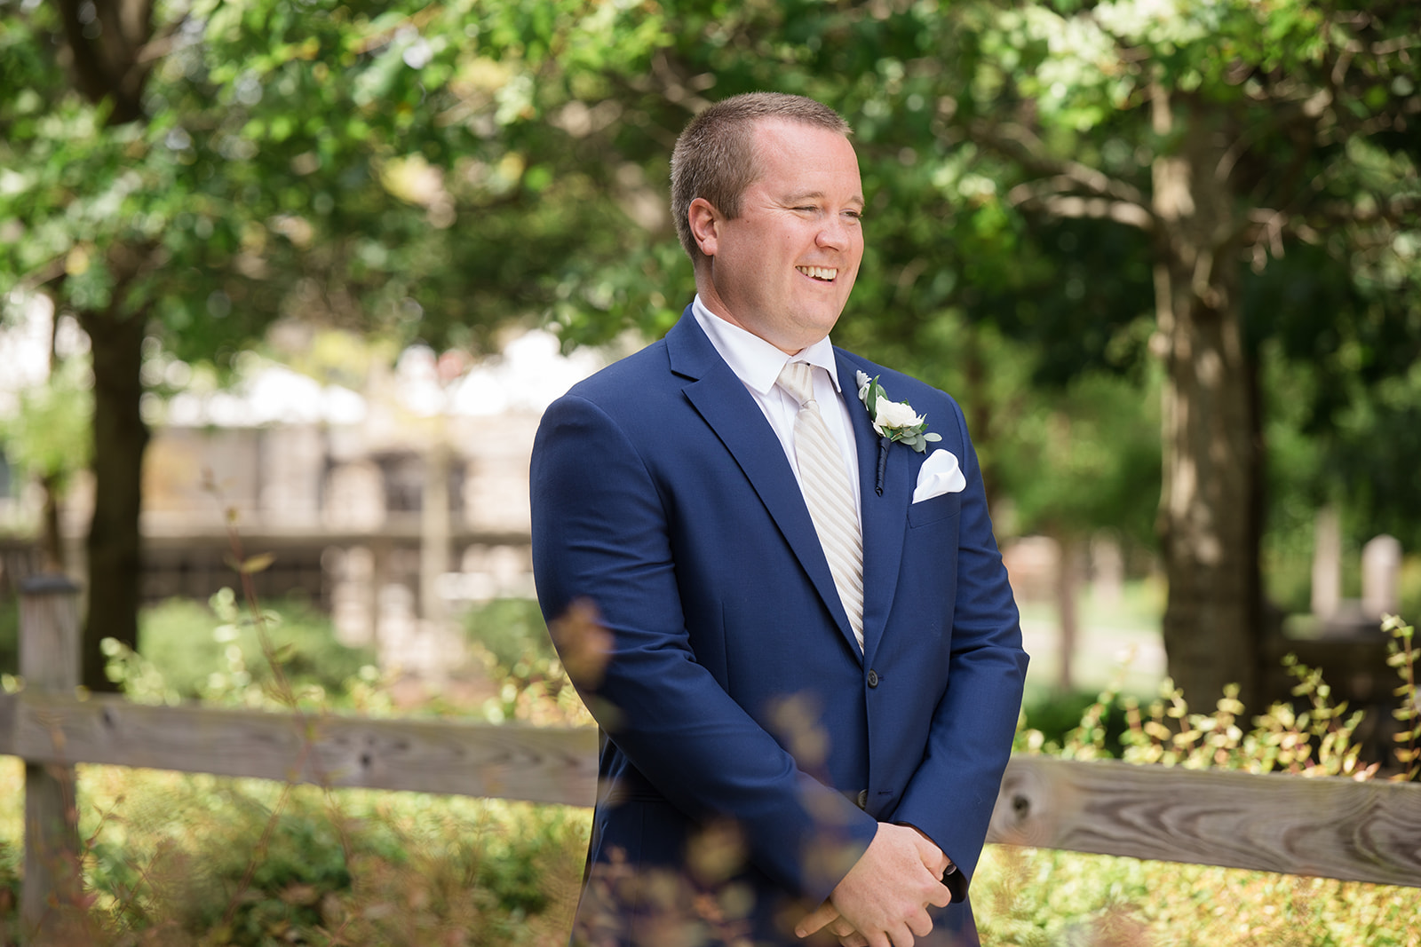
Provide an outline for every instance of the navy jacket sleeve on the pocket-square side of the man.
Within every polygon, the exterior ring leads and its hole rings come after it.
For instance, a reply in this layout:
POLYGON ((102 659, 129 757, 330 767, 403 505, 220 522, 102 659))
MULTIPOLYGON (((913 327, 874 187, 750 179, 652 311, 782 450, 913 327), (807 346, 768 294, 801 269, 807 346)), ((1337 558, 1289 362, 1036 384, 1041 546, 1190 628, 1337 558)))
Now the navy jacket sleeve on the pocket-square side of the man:
POLYGON ((958 867, 953 900, 966 893, 1022 707, 1027 656, 1006 569, 992 535, 976 451, 965 444, 956 605, 948 686, 934 711, 922 762, 890 821, 922 829, 958 867))

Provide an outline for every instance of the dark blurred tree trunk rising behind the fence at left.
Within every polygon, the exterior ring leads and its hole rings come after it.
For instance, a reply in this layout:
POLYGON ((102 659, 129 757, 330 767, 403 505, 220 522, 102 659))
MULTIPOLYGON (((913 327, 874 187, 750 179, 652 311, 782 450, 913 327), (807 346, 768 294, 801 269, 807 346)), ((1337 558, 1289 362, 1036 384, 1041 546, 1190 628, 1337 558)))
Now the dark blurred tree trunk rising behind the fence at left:
MULTIPOLYGON (((121 294, 115 292, 115 298, 121 294)), ((88 612, 84 619, 81 680, 91 690, 114 690, 104 674, 99 642, 114 637, 138 647, 142 581, 144 450, 148 426, 139 403, 144 312, 82 311, 80 325, 94 352, 94 520, 88 532, 88 612)))

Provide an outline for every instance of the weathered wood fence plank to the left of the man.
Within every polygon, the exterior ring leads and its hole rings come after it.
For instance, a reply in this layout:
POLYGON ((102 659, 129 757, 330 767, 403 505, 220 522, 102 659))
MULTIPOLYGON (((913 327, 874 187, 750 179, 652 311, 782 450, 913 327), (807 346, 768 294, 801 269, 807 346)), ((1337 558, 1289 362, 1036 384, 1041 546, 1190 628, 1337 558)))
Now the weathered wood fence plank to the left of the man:
POLYGON ((28 691, 0 697, 6 718, 0 752, 30 761, 570 805, 591 805, 597 788, 597 731, 585 728, 151 707, 28 691))

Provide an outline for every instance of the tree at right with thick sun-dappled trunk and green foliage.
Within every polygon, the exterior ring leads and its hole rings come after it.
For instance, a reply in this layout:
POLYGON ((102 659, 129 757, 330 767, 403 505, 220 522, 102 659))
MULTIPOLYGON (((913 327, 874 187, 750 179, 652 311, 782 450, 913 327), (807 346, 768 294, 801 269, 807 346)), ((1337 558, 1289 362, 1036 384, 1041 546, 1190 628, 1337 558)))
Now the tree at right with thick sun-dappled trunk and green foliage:
POLYGON ((1165 646, 1198 700, 1259 696, 1259 348, 1317 359, 1327 426, 1351 379, 1394 376, 1421 339, 1421 13, 1347 6, 983 7, 961 60, 956 121, 1009 162, 1007 203, 1131 227, 1152 270, 1165 646), (1329 336, 1354 342, 1341 372, 1329 336))

